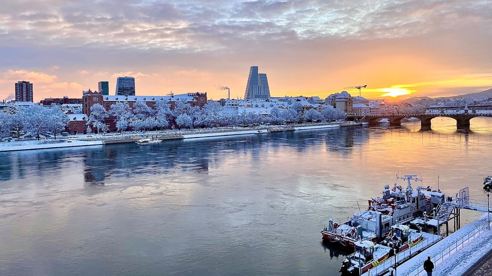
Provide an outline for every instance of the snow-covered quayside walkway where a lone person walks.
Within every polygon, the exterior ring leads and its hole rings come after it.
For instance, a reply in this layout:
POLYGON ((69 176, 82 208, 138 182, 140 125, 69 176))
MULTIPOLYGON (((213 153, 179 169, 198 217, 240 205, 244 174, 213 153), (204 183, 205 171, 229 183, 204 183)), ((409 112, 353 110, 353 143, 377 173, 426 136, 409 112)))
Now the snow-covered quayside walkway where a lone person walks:
POLYGON ((492 231, 485 229, 482 232, 478 232, 477 229, 477 227, 480 228, 480 226, 485 225, 486 222, 487 214, 485 213, 477 220, 463 226, 442 241, 399 265, 397 267, 397 275, 426 275, 422 266, 427 256, 430 256, 430 259, 434 262, 433 275, 462 275, 488 251, 492 250, 492 231), (477 233, 475 238, 473 237, 474 230, 477 233), (467 239, 468 241, 466 241, 467 239), (449 246, 452 247, 451 250, 449 250, 449 246), (441 258, 442 255, 444 256, 441 258), (420 273, 417 273, 419 271, 420 273))

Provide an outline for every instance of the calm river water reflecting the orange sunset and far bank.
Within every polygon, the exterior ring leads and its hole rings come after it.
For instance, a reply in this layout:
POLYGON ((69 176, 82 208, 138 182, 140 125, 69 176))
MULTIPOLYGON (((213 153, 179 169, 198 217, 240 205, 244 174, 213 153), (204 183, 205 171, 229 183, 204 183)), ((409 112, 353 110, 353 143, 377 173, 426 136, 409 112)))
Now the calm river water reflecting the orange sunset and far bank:
POLYGON ((438 118, 430 131, 417 122, 0 153, 0 274, 338 275, 344 257, 320 229, 366 208, 396 173, 486 200, 491 126, 477 118, 457 131, 438 118))

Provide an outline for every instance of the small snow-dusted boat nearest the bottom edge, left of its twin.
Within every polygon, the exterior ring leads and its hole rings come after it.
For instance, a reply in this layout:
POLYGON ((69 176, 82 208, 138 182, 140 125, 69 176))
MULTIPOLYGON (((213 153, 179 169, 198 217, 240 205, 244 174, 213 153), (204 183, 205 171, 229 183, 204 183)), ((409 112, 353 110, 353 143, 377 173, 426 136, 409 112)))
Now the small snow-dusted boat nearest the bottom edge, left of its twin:
POLYGON ((355 243, 355 252, 342 261, 340 272, 342 276, 361 275, 388 259, 391 250, 382 244, 359 240, 355 243))

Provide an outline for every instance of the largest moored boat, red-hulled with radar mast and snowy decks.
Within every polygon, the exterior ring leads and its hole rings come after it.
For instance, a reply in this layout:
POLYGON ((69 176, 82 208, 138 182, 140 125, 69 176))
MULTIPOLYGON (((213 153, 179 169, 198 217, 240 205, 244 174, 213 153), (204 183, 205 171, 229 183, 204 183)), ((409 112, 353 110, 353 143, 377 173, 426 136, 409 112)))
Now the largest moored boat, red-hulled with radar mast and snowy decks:
POLYGON ((392 226, 408 223, 428 214, 434 207, 444 202, 444 194, 432 191, 430 187, 412 188, 411 182, 422 182, 416 175, 396 175, 397 180, 405 180, 407 185, 395 185, 390 189, 385 185, 382 197, 368 200, 367 210, 356 212, 346 222, 330 224, 321 230, 323 239, 339 242, 353 247, 357 239, 380 242, 392 233, 392 226), (357 230, 361 227, 360 230, 357 230), (352 234, 357 235, 354 237, 352 234), (347 235, 350 234, 350 235, 347 235), (375 235, 375 238, 373 235, 375 235))

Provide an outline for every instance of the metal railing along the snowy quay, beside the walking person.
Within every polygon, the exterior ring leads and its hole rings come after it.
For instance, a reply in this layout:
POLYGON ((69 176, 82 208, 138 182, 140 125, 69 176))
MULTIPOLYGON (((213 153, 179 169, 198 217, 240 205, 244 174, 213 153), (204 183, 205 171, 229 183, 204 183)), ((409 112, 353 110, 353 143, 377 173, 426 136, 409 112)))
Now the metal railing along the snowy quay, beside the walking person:
MULTIPOLYGON (((470 240, 475 239, 480 233, 484 232, 486 229, 488 229, 488 222, 482 223, 479 226, 475 227, 473 230, 468 232, 468 234, 465 234, 461 237, 461 239, 458 239, 455 243, 449 245, 448 247, 440 250, 439 254, 436 254, 430 259, 433 261, 435 266, 438 266, 439 263, 441 263, 446 256, 450 256, 454 252, 459 251, 459 249, 463 248, 464 244, 469 242, 470 240)), ((426 275, 427 272, 425 272, 423 266, 421 264, 418 264, 418 267, 416 267, 414 270, 410 271, 407 274, 404 274, 406 276, 417 276, 417 275, 426 275)), ((403 274, 402 274, 403 275, 403 274)))

